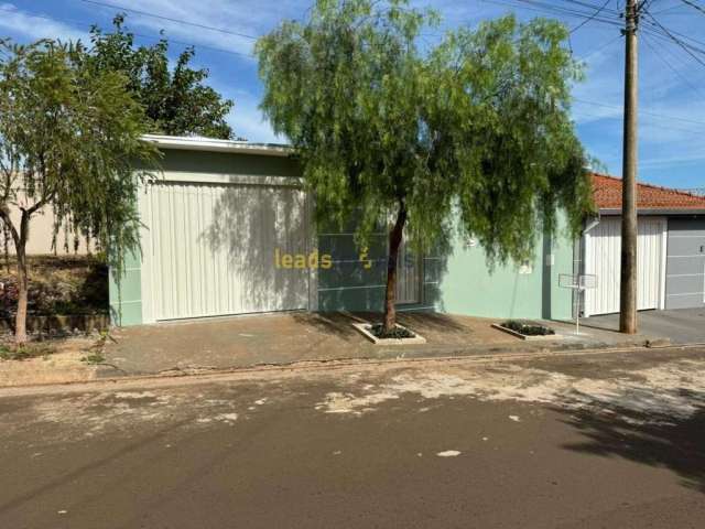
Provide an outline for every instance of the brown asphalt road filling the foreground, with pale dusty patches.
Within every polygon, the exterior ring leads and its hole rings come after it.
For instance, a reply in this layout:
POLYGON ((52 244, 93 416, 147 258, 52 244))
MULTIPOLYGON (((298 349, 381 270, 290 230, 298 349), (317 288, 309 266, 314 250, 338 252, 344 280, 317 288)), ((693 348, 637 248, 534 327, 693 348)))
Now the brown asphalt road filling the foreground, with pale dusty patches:
POLYGON ((0 528, 701 528, 705 349, 0 396, 0 528))

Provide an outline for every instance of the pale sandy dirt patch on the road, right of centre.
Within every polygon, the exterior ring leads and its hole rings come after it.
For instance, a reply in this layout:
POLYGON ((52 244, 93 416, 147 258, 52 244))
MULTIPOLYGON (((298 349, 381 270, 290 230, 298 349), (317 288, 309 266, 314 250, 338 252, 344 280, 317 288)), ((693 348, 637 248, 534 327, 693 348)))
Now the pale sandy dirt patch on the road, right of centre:
POLYGON ((404 393, 424 399, 474 397, 484 401, 514 400, 553 404, 565 409, 619 413, 627 421, 668 424, 687 419, 698 409, 693 393, 705 388, 705 360, 681 359, 637 370, 588 378, 564 373, 496 365, 476 369, 409 370, 386 381, 360 386, 348 379, 343 391, 333 391, 316 404, 326 413, 360 415, 404 393), (615 376, 617 375, 617 376, 615 376))

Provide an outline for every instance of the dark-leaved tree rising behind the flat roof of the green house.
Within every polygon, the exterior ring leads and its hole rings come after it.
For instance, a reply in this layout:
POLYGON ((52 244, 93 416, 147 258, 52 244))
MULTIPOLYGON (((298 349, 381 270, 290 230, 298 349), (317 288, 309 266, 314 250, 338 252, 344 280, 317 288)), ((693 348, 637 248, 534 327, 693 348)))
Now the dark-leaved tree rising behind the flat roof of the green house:
POLYGON ((183 51, 170 71, 166 39, 153 46, 135 46, 134 34, 126 31, 123 23, 124 14, 118 14, 111 33, 91 28, 90 66, 98 73, 120 72, 128 77, 130 91, 151 121, 150 132, 232 138, 226 121, 232 101, 204 85, 207 69, 189 66, 194 48, 183 51))

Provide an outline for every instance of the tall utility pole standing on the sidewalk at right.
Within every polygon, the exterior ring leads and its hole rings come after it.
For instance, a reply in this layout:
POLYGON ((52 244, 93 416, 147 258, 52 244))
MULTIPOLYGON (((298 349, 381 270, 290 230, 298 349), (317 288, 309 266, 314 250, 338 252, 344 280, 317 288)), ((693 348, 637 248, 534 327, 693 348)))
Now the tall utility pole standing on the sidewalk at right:
POLYGON ((637 99, 639 65, 637 28, 639 6, 627 0, 623 30, 625 62, 625 137, 621 194, 621 278, 619 288, 619 331, 637 333, 637 99))

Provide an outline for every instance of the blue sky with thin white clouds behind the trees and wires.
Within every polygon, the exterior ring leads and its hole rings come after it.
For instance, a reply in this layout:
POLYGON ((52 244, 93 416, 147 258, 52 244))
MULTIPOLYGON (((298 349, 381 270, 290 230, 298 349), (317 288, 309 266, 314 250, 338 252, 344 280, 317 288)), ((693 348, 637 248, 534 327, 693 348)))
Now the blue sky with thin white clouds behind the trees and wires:
MULTIPOLYGON (((259 111, 262 86, 251 56, 254 37, 286 19, 305 19, 313 0, 0 0, 0 37, 26 43, 37 39, 88 41, 88 29, 109 29, 112 17, 127 13, 138 43, 152 44, 164 31, 175 58, 194 45, 194 65, 210 72, 208 84, 235 100, 228 120, 238 137, 253 142, 282 142, 259 111), (159 15, 153 17, 153 15, 159 15), (172 20, 166 20, 172 19, 172 20), (187 24, 184 22, 188 22, 187 24), (197 25, 193 25, 197 24, 197 25), (206 28, 207 26, 207 28, 206 28), (217 31, 225 30, 225 31, 217 31)), ((705 50, 705 0, 650 0, 654 19, 674 36, 687 36, 705 50), (701 45, 696 41, 703 42, 701 45)), ((586 65, 586 79, 573 89, 573 118, 587 152, 601 169, 621 174, 625 42, 617 21, 623 0, 412 0, 433 7, 442 26, 425 36, 427 45, 443 32, 474 28, 513 12, 521 20, 558 18, 575 29, 571 47, 586 65), (594 20, 572 17, 577 9, 596 12, 594 20), (594 6, 594 8, 590 8, 594 6), (583 25, 581 25, 585 22, 583 25), (578 28, 578 25, 581 25, 578 28)), ((653 22, 640 35, 639 180, 680 188, 705 188, 705 53, 691 56, 666 36, 653 35, 653 22), (702 63, 701 63, 702 61, 702 63)))

